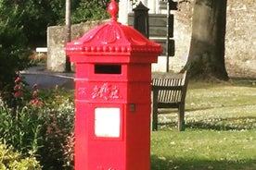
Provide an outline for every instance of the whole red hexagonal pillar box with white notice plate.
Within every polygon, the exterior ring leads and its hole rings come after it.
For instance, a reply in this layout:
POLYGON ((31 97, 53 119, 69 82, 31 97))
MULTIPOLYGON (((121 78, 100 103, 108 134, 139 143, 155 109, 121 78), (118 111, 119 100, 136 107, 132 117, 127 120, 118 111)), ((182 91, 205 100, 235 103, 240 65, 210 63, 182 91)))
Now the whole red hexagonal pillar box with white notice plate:
POLYGON ((111 20, 69 42, 76 64, 75 170, 150 169, 151 63, 160 44, 111 20))

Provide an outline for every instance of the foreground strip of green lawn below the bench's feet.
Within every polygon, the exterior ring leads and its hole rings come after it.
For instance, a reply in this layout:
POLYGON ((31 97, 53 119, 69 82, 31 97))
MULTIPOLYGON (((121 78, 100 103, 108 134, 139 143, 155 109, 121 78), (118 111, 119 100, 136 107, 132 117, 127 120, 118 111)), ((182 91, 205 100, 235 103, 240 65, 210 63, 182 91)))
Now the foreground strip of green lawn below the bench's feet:
POLYGON ((152 170, 256 168, 255 137, 255 131, 152 132, 152 170), (158 168, 155 162, 164 164, 158 168))

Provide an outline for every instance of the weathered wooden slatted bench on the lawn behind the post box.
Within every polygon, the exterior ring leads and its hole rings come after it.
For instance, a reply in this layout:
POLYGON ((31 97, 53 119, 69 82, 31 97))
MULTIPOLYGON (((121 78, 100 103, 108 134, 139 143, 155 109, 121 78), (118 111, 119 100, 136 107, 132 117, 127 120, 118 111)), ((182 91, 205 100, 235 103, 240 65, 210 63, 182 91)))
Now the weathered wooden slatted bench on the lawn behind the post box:
POLYGON ((185 130, 185 99, 187 78, 181 74, 155 73, 152 75, 152 130, 158 130, 158 109, 178 109, 178 129, 185 130))

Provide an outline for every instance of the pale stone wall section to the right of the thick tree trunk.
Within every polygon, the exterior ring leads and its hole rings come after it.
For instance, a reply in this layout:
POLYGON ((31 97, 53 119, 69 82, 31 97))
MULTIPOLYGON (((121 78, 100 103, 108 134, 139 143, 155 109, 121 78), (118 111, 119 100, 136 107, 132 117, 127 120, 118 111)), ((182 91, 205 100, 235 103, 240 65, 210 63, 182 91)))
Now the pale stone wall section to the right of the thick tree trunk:
POLYGON ((225 61, 230 76, 256 78, 255 0, 228 0, 225 61))

